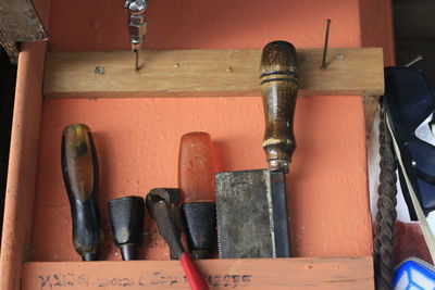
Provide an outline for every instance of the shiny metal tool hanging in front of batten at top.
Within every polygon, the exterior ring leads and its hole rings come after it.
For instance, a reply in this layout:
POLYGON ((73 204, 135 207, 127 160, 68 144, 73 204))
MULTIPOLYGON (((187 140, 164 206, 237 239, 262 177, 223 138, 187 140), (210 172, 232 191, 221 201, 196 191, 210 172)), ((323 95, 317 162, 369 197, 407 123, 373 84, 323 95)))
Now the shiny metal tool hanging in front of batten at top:
POLYGON ((147 0, 126 0, 124 9, 128 10, 128 33, 132 51, 135 53, 135 71, 139 71, 139 51, 147 34, 147 0))

